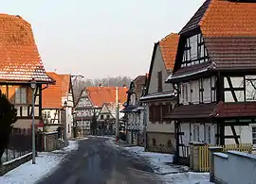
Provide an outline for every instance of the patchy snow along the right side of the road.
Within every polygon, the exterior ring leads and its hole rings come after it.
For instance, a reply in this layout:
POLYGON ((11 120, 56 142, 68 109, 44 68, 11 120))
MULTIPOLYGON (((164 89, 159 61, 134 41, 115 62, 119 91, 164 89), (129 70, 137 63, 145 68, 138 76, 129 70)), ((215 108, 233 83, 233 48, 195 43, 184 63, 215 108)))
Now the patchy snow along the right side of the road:
POLYGON ((209 174, 184 172, 181 167, 171 165, 174 156, 171 154, 160 154, 144 152, 143 147, 125 147, 127 151, 136 156, 148 159, 165 184, 212 184, 209 174))

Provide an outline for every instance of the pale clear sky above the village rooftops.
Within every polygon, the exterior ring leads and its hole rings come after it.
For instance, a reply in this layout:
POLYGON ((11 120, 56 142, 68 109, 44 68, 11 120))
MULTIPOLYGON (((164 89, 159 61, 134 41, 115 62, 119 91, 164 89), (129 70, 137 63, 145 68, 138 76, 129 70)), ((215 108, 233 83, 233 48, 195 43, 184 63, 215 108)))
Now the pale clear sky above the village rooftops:
POLYGON ((178 32, 205 0, 8 0, 33 27, 47 71, 144 75, 154 42, 178 32))

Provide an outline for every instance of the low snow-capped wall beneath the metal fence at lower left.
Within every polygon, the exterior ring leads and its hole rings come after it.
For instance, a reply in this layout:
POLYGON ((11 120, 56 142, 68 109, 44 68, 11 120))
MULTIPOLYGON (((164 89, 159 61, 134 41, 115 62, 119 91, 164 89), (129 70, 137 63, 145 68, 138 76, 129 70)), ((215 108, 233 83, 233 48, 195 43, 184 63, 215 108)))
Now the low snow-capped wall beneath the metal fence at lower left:
POLYGON ((5 175, 10 170, 19 167, 21 164, 27 162, 30 159, 32 159, 32 153, 28 153, 20 158, 12 159, 10 161, 3 163, 3 165, 0 166, 0 176, 5 175))

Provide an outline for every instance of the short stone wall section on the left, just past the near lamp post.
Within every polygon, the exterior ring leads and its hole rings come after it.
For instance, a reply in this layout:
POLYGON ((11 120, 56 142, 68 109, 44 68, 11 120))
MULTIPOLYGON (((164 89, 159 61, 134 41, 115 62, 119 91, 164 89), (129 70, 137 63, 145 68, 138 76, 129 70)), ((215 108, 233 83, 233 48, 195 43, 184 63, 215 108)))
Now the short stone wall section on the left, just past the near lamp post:
POLYGON ((50 152, 59 149, 58 132, 43 132, 44 151, 50 152))

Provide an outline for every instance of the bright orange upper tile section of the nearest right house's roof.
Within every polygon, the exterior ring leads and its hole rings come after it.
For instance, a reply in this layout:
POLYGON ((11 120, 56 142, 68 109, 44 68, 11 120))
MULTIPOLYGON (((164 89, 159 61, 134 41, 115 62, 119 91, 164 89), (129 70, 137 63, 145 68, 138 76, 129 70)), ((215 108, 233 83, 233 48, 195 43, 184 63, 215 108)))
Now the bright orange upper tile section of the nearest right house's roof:
POLYGON ((199 25, 207 37, 256 36, 256 3, 211 0, 199 25))

